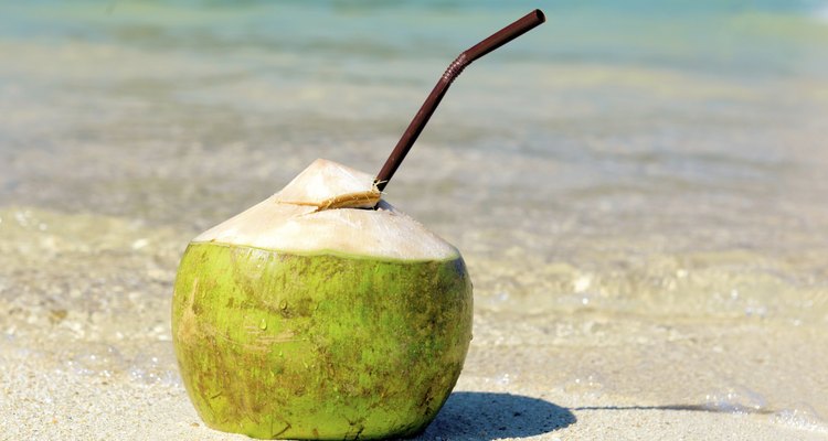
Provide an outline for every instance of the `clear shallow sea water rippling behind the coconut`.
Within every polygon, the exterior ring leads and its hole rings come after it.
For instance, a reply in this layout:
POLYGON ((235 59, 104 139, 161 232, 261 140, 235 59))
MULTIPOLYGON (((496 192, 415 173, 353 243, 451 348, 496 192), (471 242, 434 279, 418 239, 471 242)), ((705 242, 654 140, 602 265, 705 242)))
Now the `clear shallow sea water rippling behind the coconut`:
MULTIPOLYGON (((542 6, 386 190, 475 281, 459 387, 825 431, 828 6, 614 3, 542 6)), ((379 170, 448 62, 532 7, 0 7, 0 383, 28 399, 0 410, 180 399, 189 239, 316 158, 379 170)))

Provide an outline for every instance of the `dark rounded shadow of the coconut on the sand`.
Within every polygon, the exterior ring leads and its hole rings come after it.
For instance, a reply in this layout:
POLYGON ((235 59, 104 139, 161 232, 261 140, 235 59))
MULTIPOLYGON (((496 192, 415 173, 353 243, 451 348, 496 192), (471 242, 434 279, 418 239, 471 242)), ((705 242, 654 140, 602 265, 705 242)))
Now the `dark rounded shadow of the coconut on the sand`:
POLYGON ((511 394, 454 392, 414 440, 497 440, 548 433, 575 422, 567 409, 511 394))

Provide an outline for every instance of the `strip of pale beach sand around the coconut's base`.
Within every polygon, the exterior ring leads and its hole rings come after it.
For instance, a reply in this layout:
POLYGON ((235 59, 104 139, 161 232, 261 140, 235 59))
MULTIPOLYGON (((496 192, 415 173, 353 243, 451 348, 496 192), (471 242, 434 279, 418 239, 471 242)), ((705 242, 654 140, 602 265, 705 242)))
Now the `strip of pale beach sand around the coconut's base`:
MULTIPOLYGON (((171 363, 168 344, 159 345, 164 359, 150 361, 149 372, 132 368, 129 373, 107 374, 45 369, 55 362, 64 366, 66 363, 42 351, 19 347, 10 351, 10 346, 8 340, 2 346, 1 439, 247 439, 206 428, 174 374, 167 378, 153 377, 152 366, 171 363)), ((416 439, 828 439, 828 428, 803 411, 785 413, 763 409, 756 412, 691 404, 651 405, 646 400, 637 401, 635 397, 590 396, 590 392, 584 397, 553 385, 526 385, 511 381, 509 377, 479 376, 481 366, 509 361, 521 364, 509 355, 507 351, 486 353, 473 348, 455 392, 435 422, 416 439)), ((538 351, 533 351, 532 356, 554 359, 554 354, 538 351)))

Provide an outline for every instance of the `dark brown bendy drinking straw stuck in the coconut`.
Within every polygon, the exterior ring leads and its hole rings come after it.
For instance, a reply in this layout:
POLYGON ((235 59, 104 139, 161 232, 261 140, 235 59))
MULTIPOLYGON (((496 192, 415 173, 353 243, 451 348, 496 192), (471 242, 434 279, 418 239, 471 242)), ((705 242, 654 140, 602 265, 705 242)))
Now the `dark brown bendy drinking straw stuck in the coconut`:
POLYGON ((432 90, 432 93, 428 95, 428 98, 425 99, 425 103, 423 103, 420 111, 417 111, 417 115, 414 116, 414 119, 408 125, 408 128, 405 129, 405 133, 403 133, 403 137, 400 138, 400 141, 397 141, 396 147, 394 147, 394 151, 391 152, 391 155, 385 161, 385 165, 383 165, 382 170, 380 170, 380 174, 376 175, 376 180, 374 182, 376 183, 376 187, 380 189, 380 191, 385 189, 385 185, 388 185, 391 176, 393 176, 394 172, 396 172, 396 169, 400 168, 400 164, 403 162, 403 159, 405 159, 405 155, 408 154, 408 150, 411 150, 411 147, 414 146, 414 142, 417 140, 417 137, 420 137, 423 128, 426 123, 428 123, 428 119, 434 114, 437 105, 439 105, 443 96, 446 95, 448 86, 450 86, 452 82, 454 82, 454 79, 457 78, 458 75, 460 75, 460 72, 463 72, 463 69, 471 64, 471 62, 474 62, 475 60, 488 54, 489 52, 502 46, 506 43, 509 43, 518 36, 523 35, 534 26, 543 23, 545 20, 546 19, 543 15, 543 12, 541 12, 540 9, 535 9, 534 11, 526 14, 522 19, 516 21, 512 24, 509 24, 488 39, 471 46, 466 52, 461 53, 454 62, 452 62, 452 64, 448 65, 448 68, 439 78, 437 85, 434 86, 434 90, 432 90))

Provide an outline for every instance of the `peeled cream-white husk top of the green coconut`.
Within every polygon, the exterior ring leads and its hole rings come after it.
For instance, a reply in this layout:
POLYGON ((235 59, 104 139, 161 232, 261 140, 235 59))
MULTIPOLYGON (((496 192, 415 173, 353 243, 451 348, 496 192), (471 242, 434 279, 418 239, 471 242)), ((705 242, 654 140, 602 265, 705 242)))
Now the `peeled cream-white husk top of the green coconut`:
POLYGON ((370 174, 318 159, 280 192, 193 243, 394 260, 459 256, 450 244, 380 197, 370 174), (378 203, 379 209, 371 209, 378 203))

